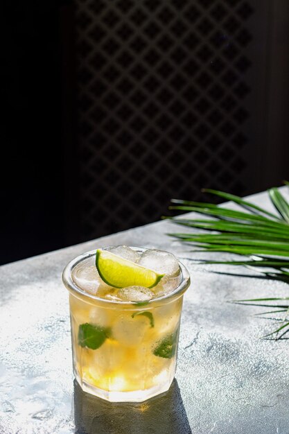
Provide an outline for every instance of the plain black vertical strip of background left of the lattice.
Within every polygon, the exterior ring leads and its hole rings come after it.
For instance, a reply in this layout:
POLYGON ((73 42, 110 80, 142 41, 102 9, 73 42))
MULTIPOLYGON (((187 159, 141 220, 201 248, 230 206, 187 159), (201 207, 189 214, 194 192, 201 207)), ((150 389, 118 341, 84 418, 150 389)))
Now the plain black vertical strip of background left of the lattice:
POLYGON ((1 263, 65 244, 60 6, 35 3, 1 3, 1 263))

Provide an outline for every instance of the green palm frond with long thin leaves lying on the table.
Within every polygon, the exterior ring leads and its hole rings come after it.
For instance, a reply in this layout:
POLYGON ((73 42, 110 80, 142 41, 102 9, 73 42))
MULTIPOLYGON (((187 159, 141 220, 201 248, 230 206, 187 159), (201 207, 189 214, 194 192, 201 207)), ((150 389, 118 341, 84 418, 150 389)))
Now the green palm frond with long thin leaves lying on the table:
MULTIPOLYGON (((284 184, 289 186, 288 181, 284 181, 284 184)), ((289 284, 289 203, 279 189, 274 187, 268 190, 270 201, 278 214, 272 214, 239 196, 223 191, 212 189, 204 189, 203 191, 234 202, 240 207, 240 210, 205 202, 173 199, 170 209, 193 211, 204 218, 200 218, 200 216, 196 218, 169 217, 173 223, 198 229, 198 232, 174 232, 168 235, 184 243, 189 243, 193 252, 227 252, 243 257, 240 261, 210 260, 203 261, 203 263, 254 267, 265 277, 281 279, 289 284)), ((239 300, 239 302, 266 300, 270 299, 239 300)), ((288 306, 272 307, 283 307, 283 311, 288 313, 288 306)), ((276 338, 280 338, 288 331, 289 320, 286 315, 281 327, 266 336, 275 335, 276 338)))

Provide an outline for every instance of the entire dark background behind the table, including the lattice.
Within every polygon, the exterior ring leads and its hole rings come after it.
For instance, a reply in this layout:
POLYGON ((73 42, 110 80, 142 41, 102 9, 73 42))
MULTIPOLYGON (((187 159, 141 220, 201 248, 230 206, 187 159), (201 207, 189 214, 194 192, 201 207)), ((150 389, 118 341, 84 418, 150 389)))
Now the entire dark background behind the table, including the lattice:
POLYGON ((0 263, 288 179, 287 0, 1 9, 0 263))

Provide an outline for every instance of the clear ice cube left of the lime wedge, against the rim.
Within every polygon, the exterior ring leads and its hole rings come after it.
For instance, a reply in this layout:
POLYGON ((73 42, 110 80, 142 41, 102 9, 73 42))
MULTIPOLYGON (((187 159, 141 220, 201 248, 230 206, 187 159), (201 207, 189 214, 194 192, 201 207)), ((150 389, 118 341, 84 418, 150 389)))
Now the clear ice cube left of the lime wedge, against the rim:
POLYGON ((94 260, 94 258, 89 258, 78 264, 73 270, 73 281, 79 288, 88 293, 94 295, 96 295, 96 293, 106 293, 108 290, 111 290, 111 287, 100 279, 94 260))

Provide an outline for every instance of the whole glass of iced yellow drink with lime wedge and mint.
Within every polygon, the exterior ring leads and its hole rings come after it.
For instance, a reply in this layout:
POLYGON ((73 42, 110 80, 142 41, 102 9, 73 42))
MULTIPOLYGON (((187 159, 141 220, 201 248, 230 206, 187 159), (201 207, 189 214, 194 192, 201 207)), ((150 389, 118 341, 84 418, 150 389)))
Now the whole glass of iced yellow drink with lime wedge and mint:
POLYGON ((73 372, 108 401, 145 401, 175 376, 189 272, 163 250, 116 246, 73 259, 69 290, 73 372))

